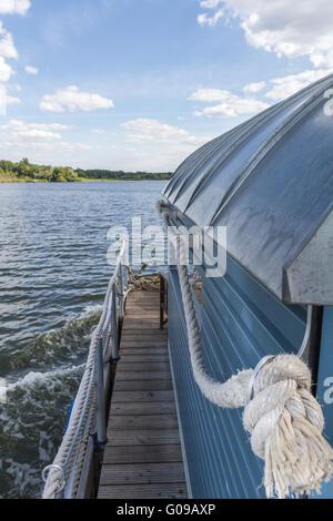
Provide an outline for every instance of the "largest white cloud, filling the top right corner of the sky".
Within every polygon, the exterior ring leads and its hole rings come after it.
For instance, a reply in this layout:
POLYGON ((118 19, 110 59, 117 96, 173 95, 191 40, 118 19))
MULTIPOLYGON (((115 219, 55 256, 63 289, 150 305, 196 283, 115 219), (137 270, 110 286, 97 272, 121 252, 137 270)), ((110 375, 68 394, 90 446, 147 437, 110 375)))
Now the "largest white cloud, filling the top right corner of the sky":
POLYGON ((332 0, 205 0, 199 23, 236 19, 248 42, 289 58, 306 55, 315 67, 333 65, 332 0))

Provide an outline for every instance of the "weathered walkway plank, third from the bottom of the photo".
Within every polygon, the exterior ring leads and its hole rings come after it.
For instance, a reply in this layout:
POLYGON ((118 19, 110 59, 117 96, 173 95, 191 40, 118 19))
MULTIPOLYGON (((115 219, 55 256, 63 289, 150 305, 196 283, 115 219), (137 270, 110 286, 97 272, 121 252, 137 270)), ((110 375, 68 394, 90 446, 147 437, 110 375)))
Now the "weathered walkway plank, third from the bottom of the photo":
POLYGON ((110 447, 104 450, 104 463, 158 463, 163 461, 182 462, 180 445, 110 447))

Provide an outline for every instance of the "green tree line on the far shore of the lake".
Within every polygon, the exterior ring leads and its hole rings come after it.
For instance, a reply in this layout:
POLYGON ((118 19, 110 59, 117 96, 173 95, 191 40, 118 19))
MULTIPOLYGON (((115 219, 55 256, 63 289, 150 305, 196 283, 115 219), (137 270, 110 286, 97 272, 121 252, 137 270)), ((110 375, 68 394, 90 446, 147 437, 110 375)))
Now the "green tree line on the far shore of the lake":
POLYGON ((19 163, 0 160, 0 181, 49 181, 52 183, 84 180, 111 181, 162 181, 171 177, 171 172, 123 172, 109 170, 82 170, 70 166, 37 165, 23 157, 19 163))

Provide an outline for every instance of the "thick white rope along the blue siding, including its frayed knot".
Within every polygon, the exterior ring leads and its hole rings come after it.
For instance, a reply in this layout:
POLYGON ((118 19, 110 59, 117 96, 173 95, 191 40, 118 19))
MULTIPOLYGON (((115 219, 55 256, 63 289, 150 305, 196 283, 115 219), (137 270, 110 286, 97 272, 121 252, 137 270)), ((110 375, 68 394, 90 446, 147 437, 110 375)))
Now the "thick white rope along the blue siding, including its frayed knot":
MULTIPOLYGON (((165 226, 169 211, 159 203, 165 226)), ((169 228, 171 229, 171 228, 169 228)), ((180 258, 185 258, 180 241, 180 258)), ((221 408, 245 407, 244 428, 252 450, 265 462, 264 487, 269 498, 320 492, 333 473, 333 450, 323 438, 324 418, 311 395, 311 372, 294 355, 279 355, 258 372, 253 397, 246 403, 253 370, 243 370, 224 384, 206 371, 201 350, 186 266, 178 266, 193 375, 201 392, 221 408)))

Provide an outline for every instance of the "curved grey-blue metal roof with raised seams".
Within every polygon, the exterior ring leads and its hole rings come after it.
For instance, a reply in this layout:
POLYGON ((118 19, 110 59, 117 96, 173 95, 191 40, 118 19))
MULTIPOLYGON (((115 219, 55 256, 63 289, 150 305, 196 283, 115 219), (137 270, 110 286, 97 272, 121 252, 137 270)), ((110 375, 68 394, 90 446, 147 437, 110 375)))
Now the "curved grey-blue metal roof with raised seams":
POLYGON ((206 143, 163 195, 286 303, 333 305, 333 74, 206 143))

